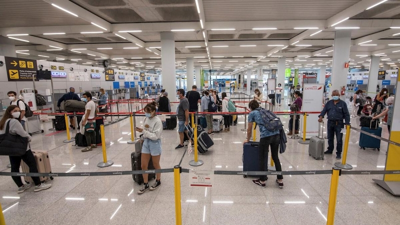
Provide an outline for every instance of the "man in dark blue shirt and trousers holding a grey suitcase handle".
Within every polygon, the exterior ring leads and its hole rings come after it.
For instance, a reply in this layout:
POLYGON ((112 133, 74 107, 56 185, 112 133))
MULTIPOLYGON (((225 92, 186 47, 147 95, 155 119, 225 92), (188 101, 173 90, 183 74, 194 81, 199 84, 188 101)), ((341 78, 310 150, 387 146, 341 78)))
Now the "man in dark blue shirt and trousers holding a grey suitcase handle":
POLYGON ((325 154, 332 154, 334 149, 334 135, 336 134, 336 159, 341 158, 341 148, 343 145, 343 133, 341 129, 344 128, 344 124, 350 124, 350 113, 347 109, 345 101, 340 100, 339 90, 332 91, 332 100, 326 102, 321 113, 319 114, 318 122, 322 122, 322 118, 325 114, 328 119, 327 124, 327 137, 328 137, 328 149, 325 154), (343 123, 344 119, 344 123, 343 123))

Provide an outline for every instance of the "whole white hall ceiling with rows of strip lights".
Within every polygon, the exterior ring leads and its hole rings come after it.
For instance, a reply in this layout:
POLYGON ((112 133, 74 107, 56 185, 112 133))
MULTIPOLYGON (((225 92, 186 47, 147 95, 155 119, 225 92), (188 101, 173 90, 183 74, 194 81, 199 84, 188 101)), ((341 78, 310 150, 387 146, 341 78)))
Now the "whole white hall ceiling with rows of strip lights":
MULTIPOLYGON (((138 70, 145 66, 161 66, 160 32, 194 29, 174 32, 175 58, 180 64, 177 67, 185 65, 186 57, 196 57, 195 65, 201 65, 204 69, 225 69, 223 73, 226 73, 236 69, 246 70, 248 67, 271 68, 276 66, 278 55, 286 56, 287 66, 291 68, 301 68, 306 64, 329 66, 335 31, 332 24, 349 17, 335 27, 359 27, 351 31, 350 58, 355 60, 352 63, 364 61, 365 64, 370 55, 385 53, 387 56, 381 58, 390 60, 381 63, 398 65, 400 35, 393 34, 400 33, 400 28, 390 27, 400 27, 400 0, 387 0, 365 10, 380 1, 198 0, 200 13, 197 13, 196 0, 1 0, 0 35, 29 34, 14 36, 29 42, 11 42, 17 45, 16 50, 29 50, 25 51, 29 55, 17 53, 19 57, 47 60, 64 58, 64 62, 90 61, 93 64, 107 58, 114 66, 138 70), (78 16, 56 8, 52 3, 78 16), (234 30, 215 30, 221 28, 234 30), (122 30, 141 32, 118 32, 122 30), (80 33, 87 31, 103 33, 80 33), (49 32, 65 34, 43 35, 49 32), (376 45, 359 45, 369 40, 367 44, 376 45), (55 49, 49 45, 62 50, 49 51, 55 49), (38 54, 47 55, 50 59, 38 54), (359 58, 356 55, 367 56, 359 58), (81 60, 71 61, 76 58, 81 60), (252 61, 256 62, 249 65, 252 61)), ((0 38, 0 43, 3 39, 0 38)), ((367 65, 359 63, 353 66, 367 65)))

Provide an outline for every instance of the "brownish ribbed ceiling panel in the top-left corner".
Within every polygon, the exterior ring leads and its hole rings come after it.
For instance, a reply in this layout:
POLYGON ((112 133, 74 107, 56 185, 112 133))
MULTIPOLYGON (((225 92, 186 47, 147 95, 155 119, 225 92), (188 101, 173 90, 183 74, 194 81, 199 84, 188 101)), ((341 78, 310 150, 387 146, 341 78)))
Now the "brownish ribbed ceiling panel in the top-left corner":
POLYGON ((1 0, 0 21, 0 27, 90 24, 42 0, 1 0))

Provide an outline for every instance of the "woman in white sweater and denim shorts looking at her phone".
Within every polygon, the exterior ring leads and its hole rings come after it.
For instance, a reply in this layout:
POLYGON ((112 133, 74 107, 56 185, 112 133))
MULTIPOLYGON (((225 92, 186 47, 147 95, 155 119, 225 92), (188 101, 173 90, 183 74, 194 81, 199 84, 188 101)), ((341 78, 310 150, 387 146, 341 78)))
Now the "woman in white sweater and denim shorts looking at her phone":
MULTIPOLYGON (((164 92, 164 96, 165 96, 164 92)), ((164 97, 163 96, 163 97, 164 97)), ((148 162, 152 159, 155 169, 161 169, 159 165, 159 159, 161 157, 161 132, 162 123, 161 119, 156 116, 155 101, 146 104, 144 106, 145 118, 143 121, 144 128, 136 128, 137 132, 143 133, 143 145, 141 147, 141 169, 148 169, 148 162)), ((144 193, 144 191, 150 189, 155 190, 161 185, 161 173, 156 173, 155 182, 150 187, 148 186, 148 174, 143 174, 143 186, 137 191, 138 194, 144 193)))

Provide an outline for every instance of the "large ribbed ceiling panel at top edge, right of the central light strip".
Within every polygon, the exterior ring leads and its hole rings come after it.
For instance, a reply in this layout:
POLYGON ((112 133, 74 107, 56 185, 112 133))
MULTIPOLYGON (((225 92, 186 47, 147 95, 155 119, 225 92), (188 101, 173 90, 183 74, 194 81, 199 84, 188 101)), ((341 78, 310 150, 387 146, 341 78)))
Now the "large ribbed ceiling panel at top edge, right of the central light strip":
POLYGON ((203 0, 205 21, 327 19, 360 0, 203 0))

